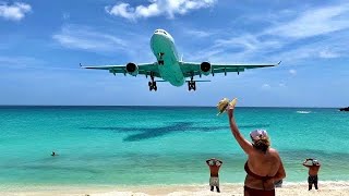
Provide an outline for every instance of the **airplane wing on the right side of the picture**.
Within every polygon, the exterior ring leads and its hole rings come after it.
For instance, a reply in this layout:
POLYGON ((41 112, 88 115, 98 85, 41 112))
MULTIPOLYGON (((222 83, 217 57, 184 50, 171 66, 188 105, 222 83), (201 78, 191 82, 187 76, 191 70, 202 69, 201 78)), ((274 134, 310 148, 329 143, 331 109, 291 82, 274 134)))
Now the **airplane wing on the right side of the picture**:
MULTIPOLYGON (((276 66, 281 63, 275 63, 275 64, 210 64, 210 69, 206 72, 203 72, 202 70, 202 63, 195 63, 195 62, 181 62, 181 69, 185 77, 195 76, 195 75, 208 75, 208 74, 215 74, 215 73, 225 73, 225 75, 228 72, 243 72, 244 70, 249 69, 257 69, 257 68, 267 68, 267 66, 276 66)), ((207 65, 206 64, 206 65, 207 65)), ((207 68, 207 66, 206 66, 207 68)))

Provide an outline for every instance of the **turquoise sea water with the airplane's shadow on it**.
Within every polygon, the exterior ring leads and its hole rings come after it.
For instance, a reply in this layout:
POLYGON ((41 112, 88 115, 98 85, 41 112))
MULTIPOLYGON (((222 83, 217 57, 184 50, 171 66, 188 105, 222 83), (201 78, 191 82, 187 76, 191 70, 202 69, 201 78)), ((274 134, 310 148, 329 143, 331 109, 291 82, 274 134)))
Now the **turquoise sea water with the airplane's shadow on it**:
MULTIPOLYGON (((221 183, 242 183, 246 156, 226 114, 201 107, 0 107, 0 184, 153 185, 207 183, 207 158, 224 161, 221 183), (51 151, 59 156, 51 157, 51 151)), ((286 182, 303 182, 305 158, 321 181, 349 180, 349 113, 327 108, 237 108, 248 137, 265 128, 286 182)))

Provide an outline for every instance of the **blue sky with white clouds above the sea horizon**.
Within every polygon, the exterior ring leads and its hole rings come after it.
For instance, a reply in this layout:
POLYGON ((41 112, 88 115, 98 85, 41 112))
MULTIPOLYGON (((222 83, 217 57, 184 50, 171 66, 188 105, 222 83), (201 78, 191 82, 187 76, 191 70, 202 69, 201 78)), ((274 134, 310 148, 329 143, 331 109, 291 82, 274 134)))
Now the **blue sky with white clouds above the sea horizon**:
POLYGON ((0 105, 349 106, 346 0, 0 0, 0 105), (184 61, 277 63, 196 91, 86 65, 155 62, 164 28, 184 61))

